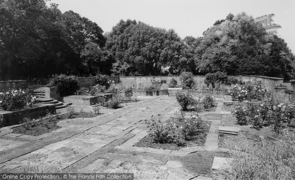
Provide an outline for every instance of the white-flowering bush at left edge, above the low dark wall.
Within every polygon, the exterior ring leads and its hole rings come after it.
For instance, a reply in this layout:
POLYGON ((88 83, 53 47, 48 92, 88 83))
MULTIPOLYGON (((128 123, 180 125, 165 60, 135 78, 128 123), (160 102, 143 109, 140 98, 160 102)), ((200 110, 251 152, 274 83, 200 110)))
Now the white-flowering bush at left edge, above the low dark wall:
POLYGON ((5 111, 23 109, 25 106, 31 106, 35 103, 35 100, 35 96, 29 96, 29 94, 23 90, 0 92, 0 108, 5 111))

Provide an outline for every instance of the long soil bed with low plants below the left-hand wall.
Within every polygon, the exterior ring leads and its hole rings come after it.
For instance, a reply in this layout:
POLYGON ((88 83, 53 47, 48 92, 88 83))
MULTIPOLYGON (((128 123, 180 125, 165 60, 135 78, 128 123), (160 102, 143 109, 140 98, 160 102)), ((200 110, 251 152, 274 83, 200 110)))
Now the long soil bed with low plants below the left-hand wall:
MULTIPOLYGON (((96 115, 91 112, 80 112, 80 113, 74 113, 70 119, 93 118, 96 116, 99 116, 99 115, 96 115)), ((69 119, 67 114, 53 115, 52 117, 49 117, 47 119, 34 121, 34 122, 30 121, 27 124, 14 127, 12 133, 25 134, 30 136, 39 136, 39 135, 54 131, 56 129, 59 129, 60 126, 58 126, 57 123, 60 120, 66 120, 66 119, 69 119)))

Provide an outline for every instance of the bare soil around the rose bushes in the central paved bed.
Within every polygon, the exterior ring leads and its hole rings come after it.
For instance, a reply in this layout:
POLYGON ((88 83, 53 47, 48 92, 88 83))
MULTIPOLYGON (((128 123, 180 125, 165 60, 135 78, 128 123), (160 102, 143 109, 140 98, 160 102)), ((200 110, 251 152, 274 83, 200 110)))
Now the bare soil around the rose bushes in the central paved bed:
MULTIPOLYGON (((170 118, 168 121, 174 122, 176 119, 170 118)), ((186 141, 185 140, 185 145, 184 146, 177 146, 174 143, 154 143, 153 138, 147 135, 143 139, 141 139, 138 143, 136 143, 134 146, 137 147, 144 147, 144 148, 154 148, 154 149, 160 149, 160 150, 179 150, 181 148, 185 147, 194 147, 194 146, 204 146, 207 138, 207 134, 210 129, 211 122, 205 122, 205 129, 204 132, 199 133, 196 135, 192 140, 186 141)))

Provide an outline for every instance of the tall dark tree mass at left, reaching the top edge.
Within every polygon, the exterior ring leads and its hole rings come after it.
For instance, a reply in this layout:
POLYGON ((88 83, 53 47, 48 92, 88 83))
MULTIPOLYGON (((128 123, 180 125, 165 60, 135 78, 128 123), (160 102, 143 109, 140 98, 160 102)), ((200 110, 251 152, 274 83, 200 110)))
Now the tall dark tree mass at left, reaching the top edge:
MULTIPOLYGON (((86 66, 92 60, 85 50, 89 44, 102 48, 102 33, 87 18, 72 11, 62 14, 56 4, 48 7, 45 0, 0 0, 0 80, 88 75, 86 66)), ((97 53, 90 48, 88 54, 90 50, 97 53)))

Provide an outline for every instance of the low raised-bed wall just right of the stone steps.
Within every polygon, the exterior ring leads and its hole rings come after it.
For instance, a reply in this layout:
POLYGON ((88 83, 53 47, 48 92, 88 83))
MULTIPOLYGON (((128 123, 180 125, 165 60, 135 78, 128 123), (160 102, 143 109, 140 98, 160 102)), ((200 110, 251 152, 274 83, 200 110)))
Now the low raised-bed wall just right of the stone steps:
POLYGON ((63 97, 63 102, 69 102, 74 105, 91 106, 98 103, 99 97, 104 97, 105 100, 108 101, 109 99, 112 99, 113 95, 112 93, 99 94, 95 96, 70 95, 70 96, 63 97))

